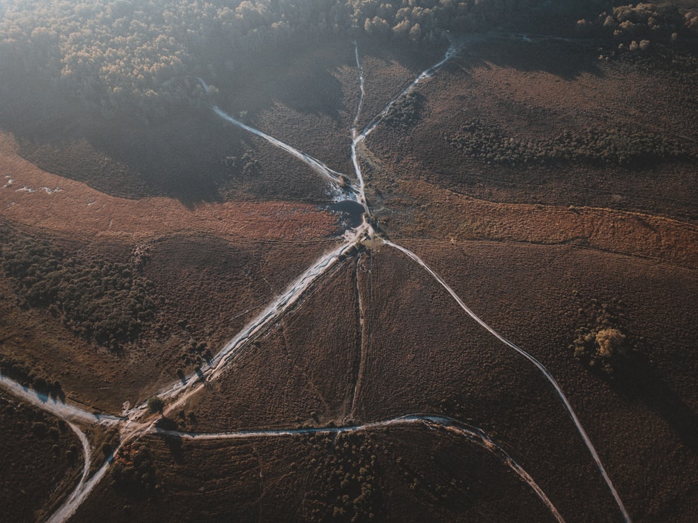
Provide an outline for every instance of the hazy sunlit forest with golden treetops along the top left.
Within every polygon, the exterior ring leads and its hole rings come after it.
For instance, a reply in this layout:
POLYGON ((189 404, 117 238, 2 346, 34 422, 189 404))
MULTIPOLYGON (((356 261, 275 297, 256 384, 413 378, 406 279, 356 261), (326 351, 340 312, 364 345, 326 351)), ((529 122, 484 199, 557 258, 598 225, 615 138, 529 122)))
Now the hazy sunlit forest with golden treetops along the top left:
MULTIPOLYGON (((554 10, 600 3, 557 1, 554 10)), ((436 42, 550 9, 544 0, 3 0, 0 64, 15 90, 38 82, 105 117, 124 108, 164 115, 207 97, 199 82, 173 79, 235 71, 251 52, 299 35, 436 42)))

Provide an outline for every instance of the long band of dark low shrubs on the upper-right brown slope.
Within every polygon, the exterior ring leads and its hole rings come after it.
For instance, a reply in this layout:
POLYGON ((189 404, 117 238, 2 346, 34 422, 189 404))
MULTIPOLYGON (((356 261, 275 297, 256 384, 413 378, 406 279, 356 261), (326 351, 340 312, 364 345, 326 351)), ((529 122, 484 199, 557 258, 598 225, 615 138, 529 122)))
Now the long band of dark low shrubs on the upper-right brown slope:
POLYGON ((563 131, 551 140, 536 141, 507 136, 500 128, 477 119, 444 138, 470 158, 510 166, 570 161, 595 165, 635 165, 680 159, 689 154, 680 142, 664 135, 620 128, 563 131))

